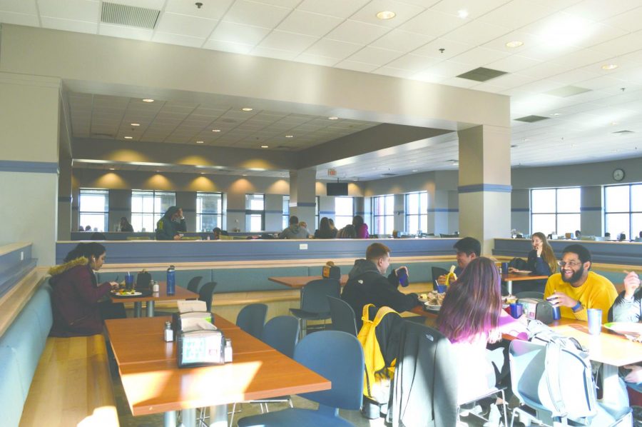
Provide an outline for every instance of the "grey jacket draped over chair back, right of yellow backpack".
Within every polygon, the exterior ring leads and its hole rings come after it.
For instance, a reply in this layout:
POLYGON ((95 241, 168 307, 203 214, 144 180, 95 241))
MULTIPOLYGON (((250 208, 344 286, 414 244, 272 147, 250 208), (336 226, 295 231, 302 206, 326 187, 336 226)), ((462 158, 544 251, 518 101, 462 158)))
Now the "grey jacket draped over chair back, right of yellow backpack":
POLYGON ((417 425, 417 417, 424 426, 457 424, 457 367, 450 352, 450 341, 436 329, 404 322, 388 408, 393 426, 417 425))

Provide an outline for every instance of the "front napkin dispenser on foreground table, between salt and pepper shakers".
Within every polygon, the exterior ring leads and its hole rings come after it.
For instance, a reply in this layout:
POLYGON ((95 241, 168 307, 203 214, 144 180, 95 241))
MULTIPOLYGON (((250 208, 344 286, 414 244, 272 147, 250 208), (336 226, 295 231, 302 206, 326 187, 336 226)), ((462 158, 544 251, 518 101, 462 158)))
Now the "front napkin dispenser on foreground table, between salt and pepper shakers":
POLYGON ((225 336, 220 330, 182 331, 178 334, 177 343, 179 368, 225 363, 225 336))

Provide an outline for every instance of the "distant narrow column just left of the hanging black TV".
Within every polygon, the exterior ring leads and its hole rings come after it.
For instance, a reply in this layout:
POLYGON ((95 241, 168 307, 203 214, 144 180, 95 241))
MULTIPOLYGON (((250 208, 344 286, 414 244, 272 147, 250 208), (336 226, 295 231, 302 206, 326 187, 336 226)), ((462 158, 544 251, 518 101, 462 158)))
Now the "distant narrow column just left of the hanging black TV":
POLYGON ((316 183, 315 168, 290 171, 290 216, 307 222, 308 230, 315 228, 316 183))

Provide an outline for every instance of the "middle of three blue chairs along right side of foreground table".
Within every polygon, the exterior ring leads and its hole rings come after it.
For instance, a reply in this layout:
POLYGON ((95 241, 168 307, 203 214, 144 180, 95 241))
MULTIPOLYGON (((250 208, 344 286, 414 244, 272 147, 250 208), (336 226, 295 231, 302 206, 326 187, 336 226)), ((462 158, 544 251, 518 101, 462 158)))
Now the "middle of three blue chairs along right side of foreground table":
MULTIPOLYGON (((285 356, 294 357, 295 347, 299 341, 299 321, 292 316, 277 316, 271 318, 270 321, 265 323, 263 333, 261 333, 261 341, 277 351, 285 354, 285 356)), ((248 403, 258 403, 261 408, 261 413, 269 412, 267 403, 280 403, 287 402, 292 408, 292 399, 290 396, 279 396, 274 398, 258 399, 248 403), (263 405, 265 404, 265 409, 263 405)), ((234 414, 236 413, 236 403, 232 406, 230 426, 233 425, 234 414)))

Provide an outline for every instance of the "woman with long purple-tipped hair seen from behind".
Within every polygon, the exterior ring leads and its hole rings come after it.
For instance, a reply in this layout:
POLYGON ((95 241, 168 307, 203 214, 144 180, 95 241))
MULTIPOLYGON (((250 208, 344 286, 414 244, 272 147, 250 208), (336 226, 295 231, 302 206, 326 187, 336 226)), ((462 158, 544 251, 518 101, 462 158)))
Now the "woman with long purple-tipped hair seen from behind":
MULTIPOLYGON (((449 286, 437 316, 437 328, 452 343, 452 366, 457 368, 458 403, 483 396, 508 375, 507 352, 497 343, 501 333, 527 338, 526 327, 501 308, 501 277, 493 261, 472 259, 457 281, 449 286)), ((499 410, 491 406, 491 418, 499 422, 499 410)), ((484 424, 486 425, 486 424, 484 424)), ((496 423, 490 425, 496 426, 496 423)))

